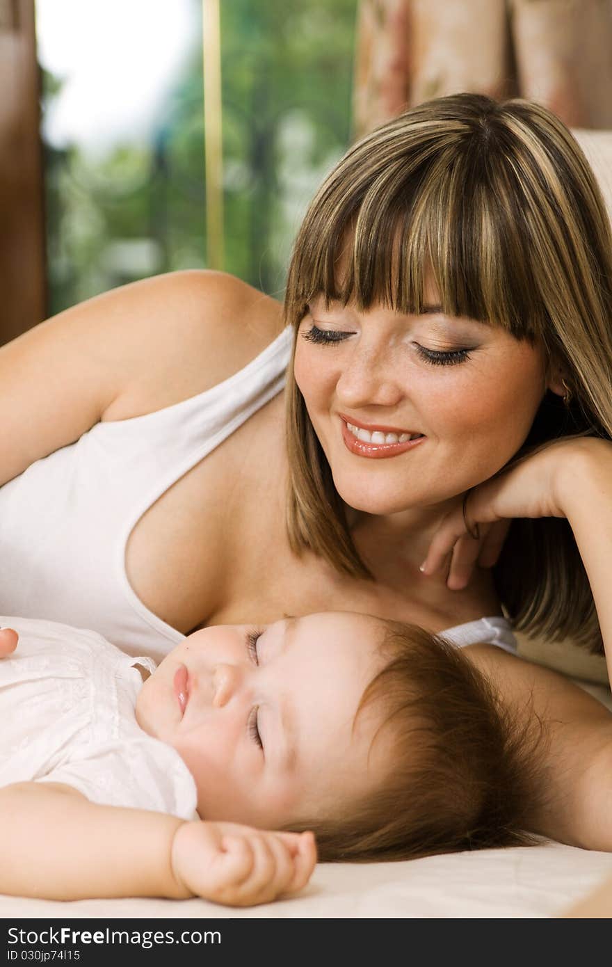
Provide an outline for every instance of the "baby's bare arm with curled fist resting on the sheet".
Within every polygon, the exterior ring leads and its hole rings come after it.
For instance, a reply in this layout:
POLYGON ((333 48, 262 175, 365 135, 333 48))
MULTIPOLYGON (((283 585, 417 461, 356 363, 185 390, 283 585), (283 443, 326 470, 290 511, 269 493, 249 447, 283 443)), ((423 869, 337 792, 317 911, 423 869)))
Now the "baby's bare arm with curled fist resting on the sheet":
POLYGON ((301 890, 316 862, 309 833, 100 806, 70 786, 40 782, 0 789, 0 855, 3 894, 202 896, 232 906, 301 890))

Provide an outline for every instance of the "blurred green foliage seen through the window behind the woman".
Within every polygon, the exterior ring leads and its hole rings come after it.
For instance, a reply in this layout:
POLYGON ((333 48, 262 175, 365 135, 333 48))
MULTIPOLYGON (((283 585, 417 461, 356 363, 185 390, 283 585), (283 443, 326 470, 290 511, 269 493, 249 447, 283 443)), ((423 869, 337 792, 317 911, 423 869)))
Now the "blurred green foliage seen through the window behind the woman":
MULTIPOLYGON (((146 142, 45 149, 51 313, 206 266, 199 0, 193 11, 192 53, 146 142)), ((356 0, 221 2, 224 268, 278 296, 306 204, 350 141, 355 15, 356 0)), ((44 110, 61 89, 44 73, 44 110)))

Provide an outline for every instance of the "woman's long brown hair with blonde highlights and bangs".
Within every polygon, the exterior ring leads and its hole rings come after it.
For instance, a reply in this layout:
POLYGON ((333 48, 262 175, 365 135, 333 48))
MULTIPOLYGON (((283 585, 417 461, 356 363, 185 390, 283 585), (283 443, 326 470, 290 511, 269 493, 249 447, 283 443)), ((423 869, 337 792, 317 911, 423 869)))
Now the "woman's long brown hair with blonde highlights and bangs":
MULTIPOLYGON (((537 341, 571 393, 544 396, 520 455, 570 434, 612 436, 612 238, 591 168, 550 111, 458 94, 420 104, 338 162, 298 234, 285 297, 297 330, 316 295, 360 308, 443 310, 537 341), (342 251, 343 269, 337 271, 342 251)), ((294 341, 295 354, 295 341, 294 341)), ((371 576, 289 367, 287 524, 337 570, 371 576)), ((601 648, 568 522, 514 520, 494 571, 518 629, 601 648)))

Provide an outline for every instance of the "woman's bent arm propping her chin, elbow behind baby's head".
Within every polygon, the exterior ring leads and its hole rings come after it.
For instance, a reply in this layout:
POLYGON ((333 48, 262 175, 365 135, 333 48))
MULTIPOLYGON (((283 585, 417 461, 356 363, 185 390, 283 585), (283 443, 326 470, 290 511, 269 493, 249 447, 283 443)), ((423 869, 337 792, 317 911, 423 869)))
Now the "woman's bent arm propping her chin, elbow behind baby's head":
MULTIPOLYGON (((476 487, 464 513, 454 511, 442 522, 423 572, 444 567, 455 542, 475 525, 543 516, 567 517, 572 528, 591 582, 612 684, 609 441, 584 437, 555 442, 476 487)), ((534 711, 549 730, 549 796, 537 819, 537 832, 589 849, 612 850, 612 716, 601 706, 597 709, 589 696, 578 696, 578 689, 554 672, 510 656, 505 661, 496 658, 495 664, 491 678, 503 699, 510 698, 515 708, 521 702, 524 708, 533 699, 534 711)))

